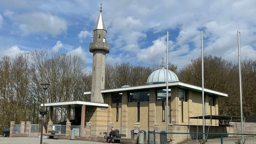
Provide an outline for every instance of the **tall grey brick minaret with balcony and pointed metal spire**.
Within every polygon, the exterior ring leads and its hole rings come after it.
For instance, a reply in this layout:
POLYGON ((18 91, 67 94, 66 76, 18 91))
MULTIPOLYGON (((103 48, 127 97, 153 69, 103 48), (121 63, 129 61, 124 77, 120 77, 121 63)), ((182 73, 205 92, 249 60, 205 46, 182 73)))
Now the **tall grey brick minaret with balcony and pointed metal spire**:
POLYGON ((90 52, 93 53, 91 102, 98 103, 104 103, 101 90, 105 89, 106 54, 109 53, 109 44, 106 43, 107 29, 101 12, 102 4, 99 18, 93 29, 93 42, 90 43, 90 52))

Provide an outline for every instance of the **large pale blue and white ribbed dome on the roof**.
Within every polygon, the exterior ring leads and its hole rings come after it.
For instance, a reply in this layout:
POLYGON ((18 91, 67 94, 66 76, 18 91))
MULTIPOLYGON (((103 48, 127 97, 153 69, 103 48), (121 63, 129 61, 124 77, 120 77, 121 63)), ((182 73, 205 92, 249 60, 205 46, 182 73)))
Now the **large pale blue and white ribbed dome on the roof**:
MULTIPOLYGON (((175 82, 179 81, 177 75, 173 72, 168 70, 168 82, 175 82)), ((166 69, 158 69, 152 72, 147 80, 147 84, 158 84, 158 83, 165 83, 166 82, 166 69)))

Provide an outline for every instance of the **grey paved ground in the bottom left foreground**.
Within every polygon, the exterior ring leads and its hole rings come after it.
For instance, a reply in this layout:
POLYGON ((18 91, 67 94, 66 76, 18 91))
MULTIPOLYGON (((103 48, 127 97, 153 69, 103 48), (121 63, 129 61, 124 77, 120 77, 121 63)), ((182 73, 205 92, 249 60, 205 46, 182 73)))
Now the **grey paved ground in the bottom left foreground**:
MULTIPOLYGON (((0 136, 0 144, 39 144, 39 138, 10 138, 0 136)), ((43 138, 43 144, 104 144, 102 142, 80 141, 80 140, 56 140, 43 138)))

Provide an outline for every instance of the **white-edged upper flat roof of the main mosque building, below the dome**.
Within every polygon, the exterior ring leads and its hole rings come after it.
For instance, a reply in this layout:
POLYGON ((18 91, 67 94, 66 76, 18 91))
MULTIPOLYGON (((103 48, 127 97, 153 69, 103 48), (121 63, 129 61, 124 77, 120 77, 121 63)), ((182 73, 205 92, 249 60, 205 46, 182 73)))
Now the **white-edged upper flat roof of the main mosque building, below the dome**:
MULTIPOLYGON (((171 87, 179 87, 181 89, 185 90, 192 90, 196 92, 201 92, 202 93, 202 87, 183 83, 183 82, 169 82, 169 86, 171 87)), ((131 86, 131 87, 124 87, 124 88, 115 88, 115 89, 107 89, 107 90, 101 90, 101 93, 119 93, 123 91, 134 91, 134 90, 149 90, 152 88, 165 88, 166 83, 161 83, 161 84, 148 84, 148 85, 142 85, 142 86, 131 86)), ((206 89, 204 88, 204 93, 205 94, 210 94, 213 96, 218 96, 218 97, 227 97, 228 94, 206 89)), ((90 95, 91 92, 84 92, 86 95, 90 95)))

